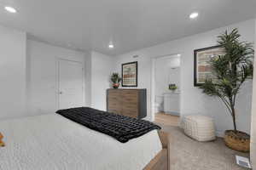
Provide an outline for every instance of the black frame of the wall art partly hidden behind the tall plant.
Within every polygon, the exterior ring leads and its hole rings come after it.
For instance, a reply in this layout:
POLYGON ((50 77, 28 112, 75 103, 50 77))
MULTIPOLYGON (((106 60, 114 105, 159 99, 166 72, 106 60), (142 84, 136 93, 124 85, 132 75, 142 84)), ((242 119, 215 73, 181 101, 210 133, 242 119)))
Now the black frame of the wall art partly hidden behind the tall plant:
POLYGON ((197 54, 198 52, 202 52, 202 51, 207 51, 207 50, 211 50, 211 49, 217 49, 217 48, 222 48, 220 45, 216 45, 216 46, 212 46, 212 47, 208 47, 208 48, 200 48, 200 49, 195 49, 194 50, 194 86, 195 87, 199 87, 201 85, 203 85, 204 83, 199 83, 197 81, 198 77, 197 77, 197 68, 198 68, 198 65, 197 65, 197 54))

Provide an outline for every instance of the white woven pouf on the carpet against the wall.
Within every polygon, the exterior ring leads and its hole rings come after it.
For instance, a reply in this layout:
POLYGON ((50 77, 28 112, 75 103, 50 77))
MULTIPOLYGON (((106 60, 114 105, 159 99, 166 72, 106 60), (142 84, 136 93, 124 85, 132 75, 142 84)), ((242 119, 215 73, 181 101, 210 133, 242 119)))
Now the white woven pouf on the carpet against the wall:
POLYGON ((216 139, 214 122, 208 116, 184 116, 182 123, 184 133, 197 141, 216 139))

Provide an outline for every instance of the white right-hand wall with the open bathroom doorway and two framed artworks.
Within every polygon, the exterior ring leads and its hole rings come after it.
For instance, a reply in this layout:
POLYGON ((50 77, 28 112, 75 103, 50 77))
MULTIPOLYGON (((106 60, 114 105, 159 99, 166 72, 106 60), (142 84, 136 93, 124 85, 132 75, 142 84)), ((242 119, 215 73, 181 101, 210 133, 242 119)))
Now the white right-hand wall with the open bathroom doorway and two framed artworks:
MULTIPOLYGON (((225 26, 213 31, 207 31, 191 37, 184 37, 172 42, 143 48, 128 54, 115 57, 115 71, 121 72, 121 64, 125 62, 138 61, 138 88, 148 89, 148 105, 150 101, 151 88, 151 60, 157 56, 168 54, 182 54, 181 57, 181 115, 201 114, 212 116, 217 125, 218 135, 224 130, 233 128, 231 117, 228 115, 224 105, 215 98, 202 94, 201 90, 194 87, 194 50, 216 45, 217 36, 226 29, 238 28, 241 40, 254 41, 254 20, 247 20, 232 26, 225 26), (132 56, 139 57, 133 59, 132 56)), ((241 131, 250 131, 250 110, 252 97, 252 82, 247 82, 247 87, 241 90, 237 99, 237 126, 241 131)), ((148 118, 154 119, 148 107, 148 118)))

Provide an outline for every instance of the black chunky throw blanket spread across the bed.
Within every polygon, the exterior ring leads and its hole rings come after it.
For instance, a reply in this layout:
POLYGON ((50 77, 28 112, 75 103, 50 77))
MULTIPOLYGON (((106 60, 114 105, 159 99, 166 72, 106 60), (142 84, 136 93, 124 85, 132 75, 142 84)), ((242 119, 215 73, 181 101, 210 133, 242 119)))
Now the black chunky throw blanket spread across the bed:
POLYGON ((106 111, 98 111, 89 107, 71 108, 56 111, 56 113, 85 127, 108 134, 122 143, 142 136, 154 129, 160 129, 159 126, 152 122, 116 115, 106 111))

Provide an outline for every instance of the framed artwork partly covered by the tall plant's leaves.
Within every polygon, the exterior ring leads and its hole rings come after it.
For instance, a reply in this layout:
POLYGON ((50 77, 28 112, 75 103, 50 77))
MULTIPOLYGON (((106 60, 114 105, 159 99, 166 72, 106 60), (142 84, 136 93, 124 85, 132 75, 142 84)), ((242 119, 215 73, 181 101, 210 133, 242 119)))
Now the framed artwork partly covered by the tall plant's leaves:
POLYGON ((214 81, 215 77, 212 74, 212 68, 209 61, 214 57, 224 54, 224 48, 220 46, 195 49, 194 86, 201 86, 205 83, 207 78, 211 78, 212 81, 214 81))

